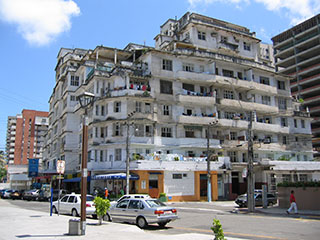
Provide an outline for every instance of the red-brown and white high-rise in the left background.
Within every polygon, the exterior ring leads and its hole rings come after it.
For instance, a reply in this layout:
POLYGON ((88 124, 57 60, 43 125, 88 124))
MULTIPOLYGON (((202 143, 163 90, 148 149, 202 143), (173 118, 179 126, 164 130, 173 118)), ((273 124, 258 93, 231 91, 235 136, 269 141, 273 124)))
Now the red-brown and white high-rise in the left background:
POLYGON ((28 159, 39 159, 41 166, 47 129, 48 112, 24 109, 17 116, 8 117, 6 153, 12 188, 26 189, 30 185, 28 159))

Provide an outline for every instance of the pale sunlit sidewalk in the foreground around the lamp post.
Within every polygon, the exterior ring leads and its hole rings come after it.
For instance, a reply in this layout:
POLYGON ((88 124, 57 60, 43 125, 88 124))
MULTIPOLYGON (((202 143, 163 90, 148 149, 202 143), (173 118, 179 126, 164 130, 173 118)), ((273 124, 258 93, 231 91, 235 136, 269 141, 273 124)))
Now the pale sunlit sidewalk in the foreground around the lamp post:
MULTIPOLYGON (((66 215, 53 215, 49 213, 22 209, 12 206, 10 203, 0 200, 0 239, 113 239, 113 240, 212 240, 213 234, 177 234, 166 235, 153 233, 139 229, 135 225, 103 222, 97 225, 98 220, 87 219, 86 235, 70 236, 69 220, 74 217, 66 215)), ((157 231, 166 231, 157 230, 157 231)), ((230 238, 236 240, 238 238, 230 238)), ((243 240, 243 239, 242 239, 243 240)))

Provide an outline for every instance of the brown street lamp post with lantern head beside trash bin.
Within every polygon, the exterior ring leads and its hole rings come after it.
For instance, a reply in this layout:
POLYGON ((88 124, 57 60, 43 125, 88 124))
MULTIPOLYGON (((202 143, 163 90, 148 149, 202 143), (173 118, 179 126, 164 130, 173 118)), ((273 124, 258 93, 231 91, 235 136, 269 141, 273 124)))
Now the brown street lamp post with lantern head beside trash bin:
POLYGON ((81 108, 84 109, 82 117, 82 161, 81 161, 81 214, 80 230, 81 235, 86 234, 86 203, 87 203, 87 161, 88 161, 88 124, 86 122, 87 109, 93 103, 94 94, 84 92, 78 96, 81 108))

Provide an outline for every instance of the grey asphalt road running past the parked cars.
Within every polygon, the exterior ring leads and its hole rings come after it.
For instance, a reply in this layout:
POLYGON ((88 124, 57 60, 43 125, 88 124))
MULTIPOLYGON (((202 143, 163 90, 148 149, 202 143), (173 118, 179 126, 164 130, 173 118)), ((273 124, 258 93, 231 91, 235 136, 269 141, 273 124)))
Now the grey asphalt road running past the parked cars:
MULTIPOLYGON (((48 212, 48 202, 7 200, 18 207, 48 212)), ((159 230, 150 226, 146 231, 173 236, 181 233, 204 233, 212 235, 210 227, 214 218, 220 220, 226 237, 245 239, 318 240, 320 220, 300 217, 270 216, 263 214, 232 213, 232 202, 215 203, 169 203, 178 209, 179 219, 159 230)))

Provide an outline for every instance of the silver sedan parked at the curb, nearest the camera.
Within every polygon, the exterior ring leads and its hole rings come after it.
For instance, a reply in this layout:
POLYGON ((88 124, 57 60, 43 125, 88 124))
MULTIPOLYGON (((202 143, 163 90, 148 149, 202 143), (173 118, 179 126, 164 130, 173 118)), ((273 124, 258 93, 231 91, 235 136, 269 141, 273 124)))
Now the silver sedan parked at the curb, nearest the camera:
POLYGON ((105 219, 135 223, 140 228, 157 223, 164 227, 178 218, 177 210, 154 198, 128 198, 112 205, 105 219))

